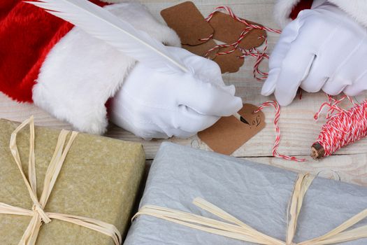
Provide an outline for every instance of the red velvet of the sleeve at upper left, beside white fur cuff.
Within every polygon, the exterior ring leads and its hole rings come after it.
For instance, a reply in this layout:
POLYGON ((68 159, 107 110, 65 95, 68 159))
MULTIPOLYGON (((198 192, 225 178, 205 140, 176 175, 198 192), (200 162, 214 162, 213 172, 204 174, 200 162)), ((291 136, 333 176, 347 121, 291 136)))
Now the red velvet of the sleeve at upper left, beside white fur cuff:
POLYGON ((32 102, 31 90, 48 52, 71 28, 23 0, 1 0, 0 91, 18 102, 32 102))

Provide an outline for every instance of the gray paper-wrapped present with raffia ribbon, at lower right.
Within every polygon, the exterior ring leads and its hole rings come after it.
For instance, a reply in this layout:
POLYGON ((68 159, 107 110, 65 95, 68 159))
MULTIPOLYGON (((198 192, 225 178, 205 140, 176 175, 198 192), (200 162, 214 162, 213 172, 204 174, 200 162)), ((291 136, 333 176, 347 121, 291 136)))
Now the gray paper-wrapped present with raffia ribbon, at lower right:
POLYGON ((366 208, 362 186, 165 143, 124 244, 367 244, 366 208))

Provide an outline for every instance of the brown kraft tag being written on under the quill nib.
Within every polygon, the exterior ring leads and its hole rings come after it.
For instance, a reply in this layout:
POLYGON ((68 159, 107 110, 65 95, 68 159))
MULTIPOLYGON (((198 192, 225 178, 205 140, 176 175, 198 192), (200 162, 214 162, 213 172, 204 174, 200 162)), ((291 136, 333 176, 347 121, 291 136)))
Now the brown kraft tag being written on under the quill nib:
POLYGON ((222 117, 212 127, 198 133, 201 141, 206 143, 213 151, 224 155, 231 155, 246 141, 254 137, 265 127, 264 113, 257 110, 253 104, 243 104, 238 111, 248 124, 241 122, 234 116, 222 117))

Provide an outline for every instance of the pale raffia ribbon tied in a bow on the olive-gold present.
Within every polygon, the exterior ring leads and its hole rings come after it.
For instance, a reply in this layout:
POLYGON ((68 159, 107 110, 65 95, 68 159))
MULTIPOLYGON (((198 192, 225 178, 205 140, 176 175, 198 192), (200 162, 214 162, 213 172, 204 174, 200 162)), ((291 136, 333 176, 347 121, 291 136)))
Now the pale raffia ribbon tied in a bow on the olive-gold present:
POLYGON ((68 136, 68 134, 69 131, 66 130, 62 130, 59 134, 59 139, 57 140, 55 152, 52 156, 50 165, 48 165, 48 169, 45 174, 45 181, 43 184, 42 195, 41 198, 38 200, 36 194, 37 183, 36 183, 36 166, 34 157, 33 116, 28 120, 25 120, 19 127, 17 127, 16 130, 14 130, 10 138, 10 151, 14 157, 17 167, 20 170, 20 174, 22 174, 22 178, 24 180, 25 185, 27 186, 27 190, 34 205, 31 210, 28 210, 20 207, 13 207, 11 205, 0 202, 0 214, 13 214, 13 215, 32 217, 27 227, 27 230, 25 230, 22 239, 20 240, 18 245, 36 244, 36 239, 38 237, 38 232, 41 228, 41 225, 43 225, 43 223, 50 223, 52 219, 73 223, 91 230, 95 230, 97 232, 101 232, 104 235, 108 235, 109 237, 111 237, 115 245, 121 244, 122 237, 120 235, 120 231, 117 230, 117 228, 115 228, 115 225, 111 225, 103 221, 96 220, 94 218, 85 218, 81 216, 50 213, 44 211, 45 205, 48 202, 48 198, 50 197, 52 188, 55 186, 57 176, 59 175, 59 172, 62 168, 66 155, 69 152, 71 144, 73 144, 73 141, 78 133, 72 132, 71 137, 69 138, 69 141, 65 146, 66 137, 68 136), (30 132, 29 132, 29 176, 27 179, 27 177, 23 172, 22 162, 20 161, 19 151, 17 149, 17 133, 28 124, 30 132))

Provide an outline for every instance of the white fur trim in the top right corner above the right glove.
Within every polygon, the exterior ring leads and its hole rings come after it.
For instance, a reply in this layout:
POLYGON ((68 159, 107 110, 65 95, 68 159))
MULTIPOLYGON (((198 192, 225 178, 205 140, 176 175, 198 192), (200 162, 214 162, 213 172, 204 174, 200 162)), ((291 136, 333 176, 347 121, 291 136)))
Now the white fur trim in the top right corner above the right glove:
POLYGON ((329 0, 334 3, 340 9, 344 10, 347 14, 357 22, 367 27, 367 1, 366 0, 329 0))

